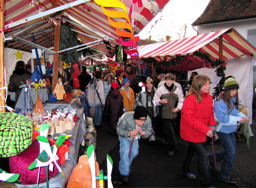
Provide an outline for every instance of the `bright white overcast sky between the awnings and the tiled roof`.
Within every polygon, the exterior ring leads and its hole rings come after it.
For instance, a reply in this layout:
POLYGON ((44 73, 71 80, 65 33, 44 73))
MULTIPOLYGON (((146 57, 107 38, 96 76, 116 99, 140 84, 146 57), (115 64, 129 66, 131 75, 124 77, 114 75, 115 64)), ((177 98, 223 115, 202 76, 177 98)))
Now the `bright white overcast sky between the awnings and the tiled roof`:
POLYGON ((210 0, 170 0, 162 13, 159 12, 138 36, 140 39, 146 39, 151 35, 151 39, 156 41, 167 35, 172 36, 171 40, 180 39, 177 32, 185 23, 188 27, 185 37, 195 36, 196 31, 191 24, 201 16, 209 2, 210 0), (160 20, 161 16, 162 20, 160 20), (156 20, 158 20, 157 24, 155 24, 156 20), (151 25, 154 26, 152 30, 151 25))

